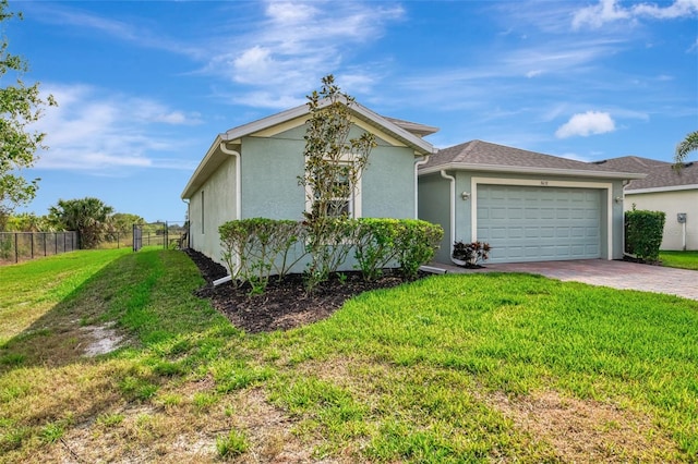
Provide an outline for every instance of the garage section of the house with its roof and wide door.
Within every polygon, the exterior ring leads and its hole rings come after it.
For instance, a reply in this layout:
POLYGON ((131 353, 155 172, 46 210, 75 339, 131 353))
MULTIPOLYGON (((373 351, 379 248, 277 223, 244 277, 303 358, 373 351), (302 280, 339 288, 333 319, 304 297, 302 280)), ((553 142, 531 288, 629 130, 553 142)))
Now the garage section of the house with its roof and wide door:
POLYGON ((623 257, 623 184, 645 174, 481 141, 419 168, 419 218, 454 241, 486 242, 489 262, 623 257))

